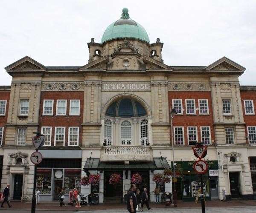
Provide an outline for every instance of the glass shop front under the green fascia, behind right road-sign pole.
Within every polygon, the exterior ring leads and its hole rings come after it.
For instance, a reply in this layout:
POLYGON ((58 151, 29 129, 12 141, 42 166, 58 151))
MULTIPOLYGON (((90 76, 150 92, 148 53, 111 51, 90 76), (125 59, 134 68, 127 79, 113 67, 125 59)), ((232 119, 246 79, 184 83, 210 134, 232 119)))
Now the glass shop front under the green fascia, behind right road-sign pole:
MULTIPOLYGON (((195 198, 201 187, 200 176, 183 176, 182 196, 183 198, 195 198)), ((210 197, 210 181, 208 176, 203 176, 204 196, 210 197)))

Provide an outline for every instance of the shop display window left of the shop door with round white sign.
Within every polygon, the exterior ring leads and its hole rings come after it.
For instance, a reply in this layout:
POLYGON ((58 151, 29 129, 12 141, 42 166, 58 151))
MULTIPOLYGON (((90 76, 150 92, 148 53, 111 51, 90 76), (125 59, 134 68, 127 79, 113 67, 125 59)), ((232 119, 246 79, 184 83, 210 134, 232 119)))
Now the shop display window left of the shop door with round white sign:
POLYGON ((36 190, 41 194, 51 194, 52 170, 38 170, 36 190))

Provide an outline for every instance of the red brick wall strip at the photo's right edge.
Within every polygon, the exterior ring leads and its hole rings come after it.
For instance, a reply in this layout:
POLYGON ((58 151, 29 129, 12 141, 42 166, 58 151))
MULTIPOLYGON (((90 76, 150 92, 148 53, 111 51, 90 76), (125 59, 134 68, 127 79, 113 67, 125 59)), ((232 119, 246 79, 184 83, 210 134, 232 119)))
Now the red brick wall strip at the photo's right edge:
MULTIPOLYGON (((256 91, 241 91, 241 102, 243 108, 244 122, 245 122, 245 135, 248 136, 247 127, 248 126, 256 126, 256 91), (246 115, 244 109, 244 100, 252 100, 254 107, 254 115, 246 115)), ((246 143, 249 143, 248 138, 246 139, 246 143)))

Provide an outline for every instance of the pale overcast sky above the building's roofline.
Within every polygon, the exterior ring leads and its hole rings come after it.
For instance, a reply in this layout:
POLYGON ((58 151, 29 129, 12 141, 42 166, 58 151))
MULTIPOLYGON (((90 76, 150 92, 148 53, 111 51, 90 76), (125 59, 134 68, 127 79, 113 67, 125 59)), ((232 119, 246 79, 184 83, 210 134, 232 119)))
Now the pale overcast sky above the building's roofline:
POLYGON ((167 65, 207 66, 226 56, 256 85, 256 0, 0 0, 0 85, 4 67, 28 55, 45 66, 82 66, 87 42, 127 7, 151 43, 164 43, 167 65))

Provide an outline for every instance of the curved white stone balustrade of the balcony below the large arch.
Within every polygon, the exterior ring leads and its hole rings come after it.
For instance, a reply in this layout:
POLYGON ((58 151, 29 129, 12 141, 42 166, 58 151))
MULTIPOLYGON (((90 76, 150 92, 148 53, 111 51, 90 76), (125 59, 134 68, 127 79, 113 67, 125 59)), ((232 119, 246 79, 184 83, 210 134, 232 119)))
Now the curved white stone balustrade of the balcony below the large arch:
POLYGON ((102 161, 118 161, 118 160, 145 160, 151 161, 153 159, 151 147, 134 146, 134 145, 119 145, 106 146, 102 148, 102 161))

